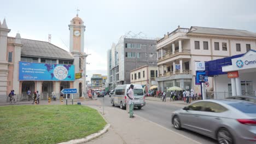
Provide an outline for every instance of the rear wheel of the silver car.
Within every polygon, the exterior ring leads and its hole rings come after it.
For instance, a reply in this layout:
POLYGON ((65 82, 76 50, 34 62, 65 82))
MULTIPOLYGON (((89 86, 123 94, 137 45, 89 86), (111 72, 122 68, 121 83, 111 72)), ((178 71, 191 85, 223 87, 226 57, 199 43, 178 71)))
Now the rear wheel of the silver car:
POLYGON ((219 144, 232 144, 234 140, 228 129, 221 128, 217 133, 217 140, 219 144))

